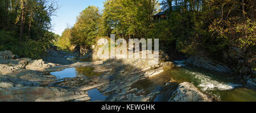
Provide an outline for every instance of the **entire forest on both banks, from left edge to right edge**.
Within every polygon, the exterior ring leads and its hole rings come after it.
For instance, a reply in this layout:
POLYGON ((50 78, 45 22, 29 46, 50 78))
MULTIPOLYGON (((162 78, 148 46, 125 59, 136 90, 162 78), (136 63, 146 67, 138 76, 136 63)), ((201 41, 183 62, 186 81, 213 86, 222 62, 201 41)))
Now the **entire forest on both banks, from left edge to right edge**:
POLYGON ((61 36, 50 32, 59 6, 46 0, 1 0, 0 51, 40 58, 51 45, 90 48, 97 37, 159 39, 167 53, 218 56, 226 48, 255 50, 255 0, 106 0, 86 7, 61 36), (167 19, 155 15, 163 11, 167 19))

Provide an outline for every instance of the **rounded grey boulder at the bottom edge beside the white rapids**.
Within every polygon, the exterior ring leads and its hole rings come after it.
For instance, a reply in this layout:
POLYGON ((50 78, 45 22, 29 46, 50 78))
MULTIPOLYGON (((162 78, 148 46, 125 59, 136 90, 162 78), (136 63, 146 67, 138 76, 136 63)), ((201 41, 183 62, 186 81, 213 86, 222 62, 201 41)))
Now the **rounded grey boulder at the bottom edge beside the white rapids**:
POLYGON ((196 86, 189 82, 180 83, 172 94, 170 102, 212 102, 213 99, 201 93, 196 86))

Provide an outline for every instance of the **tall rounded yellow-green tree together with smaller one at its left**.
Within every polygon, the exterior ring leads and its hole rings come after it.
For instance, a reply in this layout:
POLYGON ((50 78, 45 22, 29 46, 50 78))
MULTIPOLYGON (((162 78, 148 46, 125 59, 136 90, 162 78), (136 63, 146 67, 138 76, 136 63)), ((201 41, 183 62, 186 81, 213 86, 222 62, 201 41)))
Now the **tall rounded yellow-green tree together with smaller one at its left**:
POLYGON ((60 49, 72 50, 71 46, 91 47, 100 31, 101 14, 98 7, 88 6, 80 12, 72 28, 66 28, 59 37, 57 46, 60 49))

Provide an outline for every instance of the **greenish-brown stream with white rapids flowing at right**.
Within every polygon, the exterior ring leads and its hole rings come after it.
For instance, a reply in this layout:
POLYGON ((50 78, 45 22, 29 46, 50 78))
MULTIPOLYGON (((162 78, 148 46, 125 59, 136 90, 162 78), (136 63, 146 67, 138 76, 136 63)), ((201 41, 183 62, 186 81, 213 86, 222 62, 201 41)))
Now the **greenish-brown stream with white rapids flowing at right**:
MULTIPOLYGON (((256 91, 243 87, 240 79, 236 79, 231 74, 211 72, 206 69, 195 68, 193 66, 181 66, 171 69, 158 77, 158 81, 163 79, 175 79, 177 82, 191 82, 203 93, 213 95, 217 101, 224 102, 255 102, 256 91)), ((159 94, 155 101, 168 101, 168 93, 159 94)))

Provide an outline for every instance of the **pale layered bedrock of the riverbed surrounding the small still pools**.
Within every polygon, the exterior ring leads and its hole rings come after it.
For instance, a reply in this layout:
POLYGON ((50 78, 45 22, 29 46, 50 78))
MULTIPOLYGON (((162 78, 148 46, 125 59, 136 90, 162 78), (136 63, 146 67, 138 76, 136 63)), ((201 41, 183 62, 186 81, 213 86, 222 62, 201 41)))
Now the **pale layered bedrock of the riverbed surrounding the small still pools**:
MULTIPOLYGON (((51 56, 48 61, 54 61, 58 57, 65 58, 64 54, 57 51, 51 50, 52 53, 56 55, 51 56)), ((44 60, 19 58, 10 51, 3 51, 0 52, 0 101, 154 101, 162 90, 140 89, 137 84, 157 77, 166 69, 175 68, 174 63, 165 62, 165 58, 167 56, 162 54, 157 65, 148 65, 150 59, 72 62, 67 61, 67 58, 63 62, 58 60, 59 64, 53 64, 44 60), (90 72, 90 76, 60 79, 51 74, 69 68, 90 72), (89 95, 95 91, 105 98, 92 99, 89 95)), ((170 99, 171 101, 212 101, 212 98, 189 83, 178 85, 179 83, 170 79, 163 86, 170 90, 169 94, 174 99, 170 99), (188 88, 188 92, 180 91, 181 85, 188 88)))

